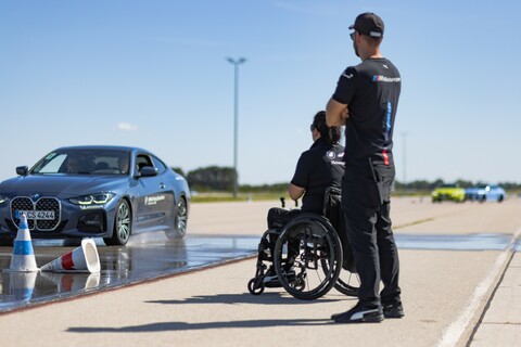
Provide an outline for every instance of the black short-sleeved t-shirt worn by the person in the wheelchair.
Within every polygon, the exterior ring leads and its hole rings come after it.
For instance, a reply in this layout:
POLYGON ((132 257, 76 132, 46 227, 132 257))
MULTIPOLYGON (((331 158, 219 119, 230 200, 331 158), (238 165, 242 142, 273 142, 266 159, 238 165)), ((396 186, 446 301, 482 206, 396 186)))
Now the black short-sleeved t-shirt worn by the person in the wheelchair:
POLYGON ((323 193, 328 187, 341 187, 344 176, 344 147, 318 139, 303 152, 291 183, 304 188, 302 211, 322 214, 323 193))

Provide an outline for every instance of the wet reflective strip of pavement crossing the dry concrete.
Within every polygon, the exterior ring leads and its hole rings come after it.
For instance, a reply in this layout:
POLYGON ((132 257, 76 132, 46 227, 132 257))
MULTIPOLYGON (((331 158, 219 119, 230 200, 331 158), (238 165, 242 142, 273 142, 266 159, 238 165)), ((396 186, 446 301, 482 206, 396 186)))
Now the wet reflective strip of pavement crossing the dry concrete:
MULTIPOLYGON (((503 250, 511 241, 511 235, 495 233, 395 237, 402 249, 436 250, 503 250)), ((259 236, 189 235, 169 241, 163 234, 148 233, 134 236, 125 247, 109 247, 96 240, 100 273, 7 272, 13 249, 0 247, 0 313, 245 258, 256 254, 258 240, 259 236)), ((63 246, 63 241, 33 243, 39 267, 77 246, 63 246)), ((518 240, 513 249, 520 248, 518 240)))

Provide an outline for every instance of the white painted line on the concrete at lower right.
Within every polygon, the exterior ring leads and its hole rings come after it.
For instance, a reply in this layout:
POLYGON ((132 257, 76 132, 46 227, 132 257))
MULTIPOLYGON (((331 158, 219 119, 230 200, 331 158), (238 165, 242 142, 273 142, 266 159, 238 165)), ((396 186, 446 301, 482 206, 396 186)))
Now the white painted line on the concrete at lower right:
POLYGON ((484 296, 488 292, 490 287, 494 285, 493 281, 497 278, 499 271, 504 268, 505 261, 508 260, 508 257, 511 254, 511 250, 516 244, 516 240, 521 235, 521 228, 516 231, 510 243, 496 258, 494 267, 488 275, 475 287, 474 293, 472 293, 471 300, 469 305, 463 309, 461 314, 445 330, 442 337, 439 339, 439 347, 452 347, 456 346, 461 335, 465 333, 467 326, 469 325, 472 317, 474 316, 475 310, 479 308, 480 303, 483 301, 484 296))

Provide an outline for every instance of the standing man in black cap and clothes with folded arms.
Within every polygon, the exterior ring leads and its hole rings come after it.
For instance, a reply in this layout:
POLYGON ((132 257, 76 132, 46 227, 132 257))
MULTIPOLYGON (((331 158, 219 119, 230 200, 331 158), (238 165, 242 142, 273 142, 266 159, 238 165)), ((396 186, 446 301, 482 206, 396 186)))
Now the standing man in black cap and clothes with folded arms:
POLYGON ((383 21, 356 17, 351 34, 361 63, 347 67, 327 105, 328 126, 345 125, 342 210, 360 277, 358 304, 331 317, 338 323, 402 318, 399 260, 390 218, 394 181, 393 128, 402 79, 380 52, 383 21), (380 292, 380 281, 383 290, 380 292))

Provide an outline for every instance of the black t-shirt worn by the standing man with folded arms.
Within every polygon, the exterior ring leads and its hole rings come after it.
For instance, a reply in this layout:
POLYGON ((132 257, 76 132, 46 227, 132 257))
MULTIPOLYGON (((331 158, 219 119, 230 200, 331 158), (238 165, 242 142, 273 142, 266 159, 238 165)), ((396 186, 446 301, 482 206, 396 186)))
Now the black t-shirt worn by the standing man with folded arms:
POLYGON ((333 100, 348 105, 345 156, 348 164, 394 165, 393 129, 402 78, 384 57, 367 59, 347 67, 339 78, 333 100))

